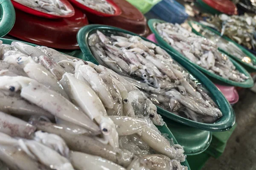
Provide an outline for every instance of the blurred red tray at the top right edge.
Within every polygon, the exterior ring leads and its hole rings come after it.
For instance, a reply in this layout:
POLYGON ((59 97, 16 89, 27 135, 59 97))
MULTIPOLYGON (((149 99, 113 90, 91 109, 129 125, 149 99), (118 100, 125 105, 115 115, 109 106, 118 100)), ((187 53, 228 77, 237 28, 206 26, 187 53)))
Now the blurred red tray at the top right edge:
POLYGON ((210 7, 221 11, 224 14, 236 15, 237 7, 231 0, 202 0, 210 7))

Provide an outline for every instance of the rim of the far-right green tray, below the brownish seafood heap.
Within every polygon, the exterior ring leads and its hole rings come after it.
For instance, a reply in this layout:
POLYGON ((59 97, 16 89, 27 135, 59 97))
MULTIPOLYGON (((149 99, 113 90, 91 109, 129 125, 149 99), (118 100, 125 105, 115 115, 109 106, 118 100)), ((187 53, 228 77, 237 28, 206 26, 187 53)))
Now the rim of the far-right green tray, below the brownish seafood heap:
MULTIPOLYGON (((221 36, 221 33, 212 29, 212 28, 209 28, 208 26, 205 26, 201 23, 198 23, 198 22, 195 22, 195 21, 189 21, 189 26, 192 28, 192 31, 195 33, 195 34, 198 34, 202 37, 204 37, 202 34, 200 34, 198 31, 196 31, 194 28, 193 28, 193 24, 196 24, 196 25, 199 25, 199 26, 202 26, 203 28, 205 29, 208 29, 209 31, 211 31, 213 34, 219 36, 219 37, 222 37, 224 38, 225 40, 227 41, 230 41, 230 42, 233 42, 238 48, 241 49, 241 51, 244 52, 244 54, 247 55, 247 57, 249 57, 254 63, 256 63, 256 56, 254 54, 252 54, 250 51, 248 51, 247 49, 245 49, 244 47, 242 47, 241 45, 239 45, 237 42, 231 40, 230 38, 228 38, 227 36, 221 36)), ((235 59, 237 62, 239 62, 247 71, 249 72, 256 72, 256 66, 252 66, 252 65, 249 65, 247 64, 246 62, 243 62, 241 61, 241 59, 233 56, 232 54, 228 53, 227 51, 225 51, 224 49, 222 49, 221 47, 218 48, 219 51, 223 52, 224 54, 226 54, 227 56, 229 57, 232 57, 233 59, 235 59)))

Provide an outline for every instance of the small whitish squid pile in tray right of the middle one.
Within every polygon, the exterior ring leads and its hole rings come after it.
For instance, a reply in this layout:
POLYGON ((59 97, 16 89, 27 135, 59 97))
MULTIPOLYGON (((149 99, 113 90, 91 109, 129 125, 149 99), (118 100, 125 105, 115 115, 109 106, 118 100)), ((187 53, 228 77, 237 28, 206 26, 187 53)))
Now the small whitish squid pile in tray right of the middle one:
POLYGON ((160 36, 192 62, 225 79, 244 82, 247 76, 236 70, 230 59, 218 51, 216 44, 179 24, 154 23, 160 36))

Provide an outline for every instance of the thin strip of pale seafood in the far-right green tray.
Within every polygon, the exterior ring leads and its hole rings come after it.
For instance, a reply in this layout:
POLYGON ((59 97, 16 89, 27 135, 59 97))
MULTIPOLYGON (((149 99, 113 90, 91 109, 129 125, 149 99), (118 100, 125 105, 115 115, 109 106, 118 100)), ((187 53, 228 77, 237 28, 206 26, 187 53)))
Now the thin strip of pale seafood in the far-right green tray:
POLYGON ((228 52, 229 54, 233 55, 234 57, 241 59, 242 62, 247 63, 253 67, 256 67, 256 61, 252 60, 250 57, 247 56, 238 46, 236 46, 233 42, 230 42, 223 37, 215 34, 214 32, 203 28, 201 25, 192 23, 193 28, 202 34, 207 40, 210 40, 212 43, 216 44, 218 48, 228 52))

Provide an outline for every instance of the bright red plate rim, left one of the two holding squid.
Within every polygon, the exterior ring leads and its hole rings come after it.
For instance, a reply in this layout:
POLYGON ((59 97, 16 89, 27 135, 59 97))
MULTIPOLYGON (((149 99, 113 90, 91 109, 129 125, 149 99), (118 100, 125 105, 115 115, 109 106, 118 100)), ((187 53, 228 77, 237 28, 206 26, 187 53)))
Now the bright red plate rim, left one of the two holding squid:
POLYGON ((54 14, 48 14, 42 11, 38 11, 36 9, 30 8, 28 6, 25 6, 21 3, 18 3, 14 0, 12 0, 12 4, 15 8, 24 11, 26 13, 32 14, 32 15, 36 15, 38 17, 44 17, 44 18, 50 18, 50 19, 57 19, 57 18, 68 18, 68 17, 72 17, 75 15, 75 9, 74 7, 67 1, 67 0, 60 0, 64 6, 66 6, 67 9, 71 10, 72 12, 70 14, 67 15, 54 15, 54 14))

